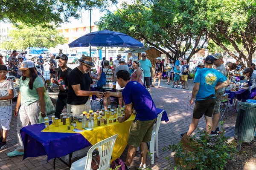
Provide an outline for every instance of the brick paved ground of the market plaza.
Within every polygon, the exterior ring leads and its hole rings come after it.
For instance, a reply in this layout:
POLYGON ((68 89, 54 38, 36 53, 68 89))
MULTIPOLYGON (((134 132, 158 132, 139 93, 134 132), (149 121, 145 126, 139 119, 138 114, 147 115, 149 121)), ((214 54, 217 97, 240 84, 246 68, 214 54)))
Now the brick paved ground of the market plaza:
MULTIPOLYGON (((180 133, 186 132, 189 128, 189 124, 192 120, 193 106, 189 104, 189 98, 192 93, 192 80, 189 80, 189 90, 185 89, 172 89, 172 85, 167 85, 166 80, 163 80, 160 84, 160 88, 152 87, 151 93, 154 103, 158 108, 165 109, 169 121, 167 123, 161 122, 159 130, 159 157, 155 156, 154 164, 150 165, 150 159, 147 159, 148 167, 153 170, 172 169, 168 166, 168 162, 165 160, 166 156, 171 156, 173 161, 172 152, 162 151, 163 147, 176 144, 180 141, 180 133)), ((15 104, 14 104, 15 107, 15 104)), ((99 108, 100 105, 93 101, 93 109, 99 108)), ((224 118, 222 120, 225 120, 224 118)), ((227 120, 225 120, 224 128, 228 136, 233 136, 236 122, 236 112, 234 109, 230 109, 227 120)), ((47 156, 39 156, 33 158, 26 158, 23 160, 23 156, 8 157, 7 153, 15 149, 17 144, 17 119, 12 117, 12 122, 8 137, 8 147, 0 151, 0 169, 1 170, 51 170, 53 169, 53 159, 47 162, 47 156)), ((199 128, 205 127, 204 118, 202 118, 198 124, 199 128)), ((196 131, 195 131, 196 133, 196 131)), ((121 158, 125 160, 127 148, 122 154, 121 158)), ((77 159, 77 158, 76 158, 77 159)), ((76 160, 74 159, 74 160, 76 160)), ((140 164, 140 153, 137 152, 134 161, 131 165, 131 169, 135 170, 140 164)), ((56 161, 57 170, 68 170, 66 165, 61 161, 56 161)))

